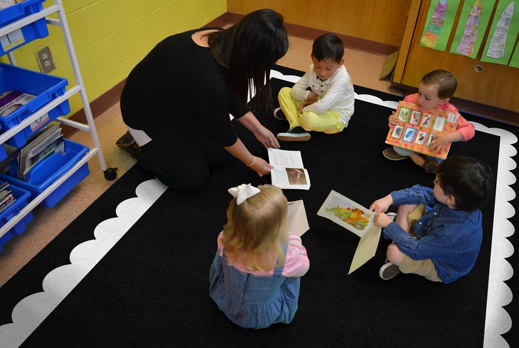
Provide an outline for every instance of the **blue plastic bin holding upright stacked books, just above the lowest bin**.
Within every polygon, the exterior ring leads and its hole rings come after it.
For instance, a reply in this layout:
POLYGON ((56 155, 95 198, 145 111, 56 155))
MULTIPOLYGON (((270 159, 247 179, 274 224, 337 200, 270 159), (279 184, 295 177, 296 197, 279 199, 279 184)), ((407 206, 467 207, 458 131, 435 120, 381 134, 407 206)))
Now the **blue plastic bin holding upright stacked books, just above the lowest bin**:
MULTIPOLYGON (((68 139, 63 141, 65 142, 65 152, 63 154, 52 154, 36 163, 31 169, 26 182, 2 173, 0 173, 0 180, 28 190, 33 198, 38 196, 60 176, 70 170, 89 151, 88 146, 68 139)), ((81 180, 86 178, 89 173, 88 163, 83 164, 81 168, 66 179, 56 190, 52 191, 39 205, 52 208, 65 194, 69 193, 81 180)))

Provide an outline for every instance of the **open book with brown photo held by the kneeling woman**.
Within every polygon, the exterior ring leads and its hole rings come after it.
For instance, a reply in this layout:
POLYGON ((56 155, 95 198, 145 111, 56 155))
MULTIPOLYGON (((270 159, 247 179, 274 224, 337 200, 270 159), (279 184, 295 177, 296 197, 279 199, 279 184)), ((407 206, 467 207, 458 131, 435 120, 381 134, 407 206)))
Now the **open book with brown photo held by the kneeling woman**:
POLYGON ((310 189, 310 177, 303 166, 301 151, 268 149, 272 185, 281 189, 310 189))

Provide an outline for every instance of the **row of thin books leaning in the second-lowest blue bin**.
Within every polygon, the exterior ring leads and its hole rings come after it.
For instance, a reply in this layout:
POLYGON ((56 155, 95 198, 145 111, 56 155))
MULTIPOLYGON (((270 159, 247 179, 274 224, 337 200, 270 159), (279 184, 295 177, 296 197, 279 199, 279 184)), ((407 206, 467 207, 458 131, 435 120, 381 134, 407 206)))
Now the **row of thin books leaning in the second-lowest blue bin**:
POLYGON ((34 133, 25 146, 10 151, 4 161, 2 173, 26 181, 36 163, 52 154, 63 154, 64 151, 65 143, 59 123, 48 124, 34 133))

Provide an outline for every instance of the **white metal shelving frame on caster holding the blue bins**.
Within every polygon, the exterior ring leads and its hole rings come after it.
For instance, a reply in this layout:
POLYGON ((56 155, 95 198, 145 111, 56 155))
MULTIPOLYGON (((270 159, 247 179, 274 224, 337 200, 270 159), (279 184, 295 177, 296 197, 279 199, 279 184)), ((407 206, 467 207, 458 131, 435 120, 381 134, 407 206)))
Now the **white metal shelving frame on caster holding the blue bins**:
MULTIPOLYGON (((65 12, 63 9, 63 4, 61 0, 53 0, 54 5, 50 5, 46 8, 44 8, 42 11, 39 11, 37 13, 34 13, 33 15, 30 15, 28 17, 25 17, 17 22, 5 25, 0 28, 0 37, 7 35, 15 30, 20 29, 21 27, 24 27, 26 25, 29 25, 38 19, 46 18, 46 23, 48 25, 57 25, 61 27, 61 30, 63 32, 63 37, 65 39, 65 45, 67 48, 67 51, 69 53, 69 58, 72 64, 72 69, 74 72, 74 77, 76 78, 77 85, 70 87, 62 96, 52 100, 47 105, 39 109, 37 112, 29 116, 28 118, 24 119, 20 124, 18 124, 16 127, 13 127, 9 130, 7 130, 5 133, 0 134, 0 144, 4 144, 9 138, 11 138, 13 135, 17 134, 21 130, 23 130, 25 127, 28 127, 33 121, 38 119, 39 117, 42 117, 44 114, 49 112, 49 110, 53 109, 54 107, 61 104, 63 101, 68 100, 76 93, 79 93, 79 96, 81 98, 81 103, 83 103, 83 109, 85 110, 85 115, 87 118, 87 124, 83 124, 80 122, 72 121, 69 119, 66 119, 64 117, 58 117, 56 121, 66 124, 67 126, 74 127, 79 130, 90 132, 90 135, 92 136, 93 144, 94 146, 89 149, 87 154, 79 160, 75 165, 72 166, 70 170, 68 170, 66 173, 64 173, 61 177, 59 177, 54 183, 52 183, 47 189, 45 189, 42 193, 40 193, 37 197, 31 197, 31 201, 26 205, 22 210, 20 210, 20 213, 10 219, 4 226, 0 228, 0 237, 3 236, 5 233, 7 233, 13 226, 17 224, 18 221, 20 221, 24 216, 29 214, 39 203, 41 203, 45 198, 49 196, 56 188, 58 188, 61 184, 65 182, 66 179, 71 177, 78 169, 81 168, 86 162, 88 162, 89 159, 94 157, 95 155, 99 158, 99 163, 101 165, 101 169, 105 173, 105 177, 107 179, 114 179, 115 178, 115 170, 111 169, 110 171, 107 171, 106 163, 103 157, 103 152, 101 151, 101 144, 99 142, 99 137, 97 134, 97 131, 95 130, 95 124, 92 117, 92 112, 90 110, 90 105, 88 103, 87 94, 85 92, 85 85, 83 84, 83 78, 81 78, 81 73, 79 71, 79 65, 77 63, 76 53, 74 51, 74 46, 72 44, 72 38, 70 35, 69 25, 67 24, 65 12), (52 13, 57 13, 58 19, 54 18, 48 18, 47 16, 51 15, 52 13), (107 176, 107 173, 110 176, 107 176)), ((11 52, 7 53, 9 62, 12 65, 17 65, 15 56, 11 52)))

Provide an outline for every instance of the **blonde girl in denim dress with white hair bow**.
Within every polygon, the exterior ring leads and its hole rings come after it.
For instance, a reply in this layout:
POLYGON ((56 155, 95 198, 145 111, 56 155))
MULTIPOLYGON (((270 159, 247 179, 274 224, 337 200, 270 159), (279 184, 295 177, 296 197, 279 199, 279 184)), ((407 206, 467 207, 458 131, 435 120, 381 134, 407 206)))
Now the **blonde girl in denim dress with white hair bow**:
POLYGON ((301 237, 286 232, 281 189, 240 185, 218 235, 209 295, 235 324, 260 329, 294 318, 299 279, 309 268, 301 237))

